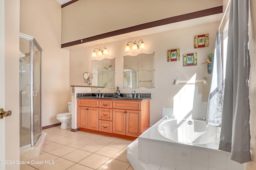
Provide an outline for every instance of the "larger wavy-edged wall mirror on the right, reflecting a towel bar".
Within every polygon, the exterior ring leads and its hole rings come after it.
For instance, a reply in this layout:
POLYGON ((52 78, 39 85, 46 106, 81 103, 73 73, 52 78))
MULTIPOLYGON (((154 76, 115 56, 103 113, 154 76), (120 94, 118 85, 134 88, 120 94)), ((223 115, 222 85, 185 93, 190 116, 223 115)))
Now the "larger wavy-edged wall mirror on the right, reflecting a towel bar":
POLYGON ((124 88, 154 88, 154 53, 124 56, 124 88))

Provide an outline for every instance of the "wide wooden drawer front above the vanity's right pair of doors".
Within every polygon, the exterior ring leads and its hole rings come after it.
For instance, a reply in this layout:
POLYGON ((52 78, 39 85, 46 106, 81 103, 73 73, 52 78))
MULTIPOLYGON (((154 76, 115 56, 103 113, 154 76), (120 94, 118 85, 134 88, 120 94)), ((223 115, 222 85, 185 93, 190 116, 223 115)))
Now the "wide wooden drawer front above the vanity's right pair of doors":
POLYGON ((113 108, 116 109, 141 109, 140 101, 116 100, 113 101, 113 108))

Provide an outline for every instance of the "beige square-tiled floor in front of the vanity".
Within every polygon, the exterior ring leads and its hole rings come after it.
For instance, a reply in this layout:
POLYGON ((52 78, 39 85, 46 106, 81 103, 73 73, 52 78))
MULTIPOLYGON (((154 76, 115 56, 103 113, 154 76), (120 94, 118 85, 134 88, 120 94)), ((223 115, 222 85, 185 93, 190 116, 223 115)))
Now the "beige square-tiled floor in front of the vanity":
POLYGON ((43 131, 47 141, 40 156, 20 165, 20 170, 133 170, 126 159, 126 147, 132 141, 60 126, 43 131))

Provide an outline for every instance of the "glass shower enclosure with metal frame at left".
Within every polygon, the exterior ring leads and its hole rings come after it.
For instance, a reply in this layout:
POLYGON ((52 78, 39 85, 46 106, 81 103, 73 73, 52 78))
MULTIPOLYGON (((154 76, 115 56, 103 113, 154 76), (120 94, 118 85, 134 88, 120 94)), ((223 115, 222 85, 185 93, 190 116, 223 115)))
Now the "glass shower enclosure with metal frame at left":
POLYGON ((42 48, 20 33, 20 149, 32 147, 42 134, 42 48))

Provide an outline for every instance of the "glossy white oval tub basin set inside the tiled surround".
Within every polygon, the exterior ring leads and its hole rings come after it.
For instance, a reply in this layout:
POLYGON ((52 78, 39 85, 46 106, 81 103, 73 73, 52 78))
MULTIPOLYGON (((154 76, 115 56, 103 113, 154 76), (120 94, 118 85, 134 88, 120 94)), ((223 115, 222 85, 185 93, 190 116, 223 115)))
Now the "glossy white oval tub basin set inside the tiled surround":
POLYGON ((220 140, 220 127, 207 125, 193 119, 169 119, 158 125, 158 132, 172 141, 184 144, 204 145, 220 140))

